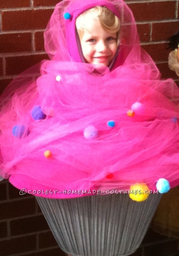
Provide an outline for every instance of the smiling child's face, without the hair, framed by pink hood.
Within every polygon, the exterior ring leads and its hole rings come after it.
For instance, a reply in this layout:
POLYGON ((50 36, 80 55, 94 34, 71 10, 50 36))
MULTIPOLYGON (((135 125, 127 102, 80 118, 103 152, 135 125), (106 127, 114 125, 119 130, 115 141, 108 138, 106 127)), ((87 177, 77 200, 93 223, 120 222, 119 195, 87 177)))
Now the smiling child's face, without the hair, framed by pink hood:
POLYGON ((117 33, 106 32, 96 19, 85 23, 80 42, 86 62, 109 66, 117 51, 117 33))

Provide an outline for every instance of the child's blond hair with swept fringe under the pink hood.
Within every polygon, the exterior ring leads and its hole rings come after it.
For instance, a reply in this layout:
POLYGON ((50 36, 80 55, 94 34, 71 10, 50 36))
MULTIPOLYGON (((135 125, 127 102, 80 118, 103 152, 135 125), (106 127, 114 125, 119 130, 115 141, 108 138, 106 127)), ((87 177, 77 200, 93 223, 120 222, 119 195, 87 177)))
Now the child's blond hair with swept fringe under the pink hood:
MULTIPOLYGON (((85 1, 85 0, 84 0, 85 1)), ((88 15, 88 17, 93 20, 97 19, 100 22, 101 27, 105 31, 112 31, 117 33, 117 37, 119 36, 120 29, 120 21, 118 17, 105 6, 96 6, 87 11, 82 12, 76 19, 76 29, 80 39, 84 34, 85 24, 84 19, 88 15)))

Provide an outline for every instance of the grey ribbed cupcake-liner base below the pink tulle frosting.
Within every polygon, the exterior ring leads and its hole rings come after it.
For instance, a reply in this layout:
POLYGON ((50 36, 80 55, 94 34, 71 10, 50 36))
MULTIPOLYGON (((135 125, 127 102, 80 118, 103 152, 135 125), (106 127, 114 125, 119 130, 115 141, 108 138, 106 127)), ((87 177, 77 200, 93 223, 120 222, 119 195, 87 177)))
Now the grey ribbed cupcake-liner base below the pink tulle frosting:
POLYGON ((64 252, 79 256, 127 256, 139 247, 161 195, 151 194, 140 203, 127 194, 36 198, 64 252))

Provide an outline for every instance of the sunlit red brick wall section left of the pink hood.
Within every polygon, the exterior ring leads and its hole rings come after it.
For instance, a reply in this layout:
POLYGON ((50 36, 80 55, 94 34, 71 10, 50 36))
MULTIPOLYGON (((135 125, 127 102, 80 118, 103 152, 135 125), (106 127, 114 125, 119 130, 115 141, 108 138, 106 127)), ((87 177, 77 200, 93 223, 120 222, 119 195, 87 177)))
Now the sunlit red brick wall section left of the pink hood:
POLYGON ((0 92, 43 59, 43 31, 58 0, 0 0, 0 92))

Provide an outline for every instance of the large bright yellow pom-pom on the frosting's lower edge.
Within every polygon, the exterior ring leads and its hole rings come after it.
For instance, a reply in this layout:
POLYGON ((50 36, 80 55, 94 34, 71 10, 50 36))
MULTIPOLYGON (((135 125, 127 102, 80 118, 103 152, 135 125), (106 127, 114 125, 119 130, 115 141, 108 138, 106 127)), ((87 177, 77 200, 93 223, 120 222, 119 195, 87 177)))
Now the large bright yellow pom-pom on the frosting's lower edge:
POLYGON ((129 197, 137 202, 142 202, 149 196, 149 188, 144 183, 136 183, 130 187, 129 197))

